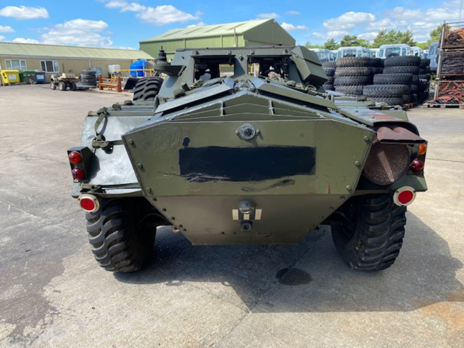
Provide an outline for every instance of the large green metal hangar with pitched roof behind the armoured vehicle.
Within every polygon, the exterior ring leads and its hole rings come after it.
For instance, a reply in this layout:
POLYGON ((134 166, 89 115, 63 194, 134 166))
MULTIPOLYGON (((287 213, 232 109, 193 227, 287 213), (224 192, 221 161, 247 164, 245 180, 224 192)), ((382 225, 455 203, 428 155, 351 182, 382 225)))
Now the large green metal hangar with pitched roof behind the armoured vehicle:
POLYGON ((156 57, 162 46, 171 59, 178 48, 276 45, 295 45, 295 39, 274 19, 261 19, 173 29, 140 41, 140 50, 156 57))

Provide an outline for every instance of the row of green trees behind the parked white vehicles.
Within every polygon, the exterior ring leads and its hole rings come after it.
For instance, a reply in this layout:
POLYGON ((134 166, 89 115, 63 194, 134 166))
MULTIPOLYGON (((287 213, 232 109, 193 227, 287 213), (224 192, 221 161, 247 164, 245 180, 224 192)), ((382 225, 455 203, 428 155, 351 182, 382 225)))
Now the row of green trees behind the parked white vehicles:
POLYGON ((380 45, 388 44, 406 44, 410 46, 419 46, 420 48, 427 50, 432 42, 437 42, 441 36, 442 26, 438 26, 430 32, 430 39, 427 42, 416 42, 413 39, 413 33, 410 30, 402 32, 400 30, 379 30, 379 34, 374 39, 374 42, 370 42, 366 39, 360 39, 356 35, 345 35, 340 42, 335 39, 327 40, 323 45, 311 45, 308 41, 305 46, 307 48, 324 48, 326 50, 337 50, 339 47, 346 46, 362 46, 367 48, 379 48, 380 45))

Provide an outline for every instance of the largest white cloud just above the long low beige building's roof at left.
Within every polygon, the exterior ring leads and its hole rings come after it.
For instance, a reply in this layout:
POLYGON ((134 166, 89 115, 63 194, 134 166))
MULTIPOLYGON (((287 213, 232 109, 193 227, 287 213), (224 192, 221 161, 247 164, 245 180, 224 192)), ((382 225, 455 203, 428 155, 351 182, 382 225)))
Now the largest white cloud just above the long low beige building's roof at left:
POLYGON ((72 19, 57 24, 40 37, 44 44, 109 47, 113 41, 102 32, 108 28, 103 20, 72 19))

